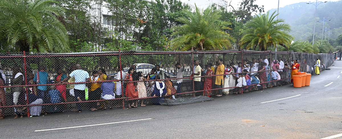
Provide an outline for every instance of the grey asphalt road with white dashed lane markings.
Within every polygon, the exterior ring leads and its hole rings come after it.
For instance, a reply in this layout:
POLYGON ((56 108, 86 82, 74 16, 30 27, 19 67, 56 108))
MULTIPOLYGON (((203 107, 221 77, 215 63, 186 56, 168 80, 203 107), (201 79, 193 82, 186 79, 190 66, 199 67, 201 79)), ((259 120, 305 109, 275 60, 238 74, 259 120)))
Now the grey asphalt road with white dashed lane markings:
POLYGON ((0 138, 321 139, 342 133, 342 61, 334 64, 302 88, 288 84, 179 106, 6 117, 0 138), (292 98, 282 99, 287 97, 292 98), (272 101, 277 99, 282 100, 272 101), (139 119, 147 120, 115 123, 139 119), (113 124, 35 132, 105 123, 113 124))

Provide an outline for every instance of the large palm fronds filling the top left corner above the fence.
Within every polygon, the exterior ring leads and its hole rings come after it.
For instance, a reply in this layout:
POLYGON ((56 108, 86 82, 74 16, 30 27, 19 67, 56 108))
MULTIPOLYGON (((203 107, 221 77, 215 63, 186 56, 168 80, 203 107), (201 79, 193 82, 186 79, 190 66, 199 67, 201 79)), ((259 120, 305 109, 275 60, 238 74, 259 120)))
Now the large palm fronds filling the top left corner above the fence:
POLYGON ((56 17, 64 10, 56 3, 52 0, 1 0, 0 34, 20 51, 68 51, 67 31, 56 17))

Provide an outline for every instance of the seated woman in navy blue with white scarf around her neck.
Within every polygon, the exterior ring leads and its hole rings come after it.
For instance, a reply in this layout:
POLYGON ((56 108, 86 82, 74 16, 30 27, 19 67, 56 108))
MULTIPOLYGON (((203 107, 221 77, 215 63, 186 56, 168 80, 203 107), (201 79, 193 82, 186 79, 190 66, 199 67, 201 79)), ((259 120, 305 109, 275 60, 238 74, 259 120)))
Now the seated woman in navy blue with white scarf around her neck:
POLYGON ((152 98, 152 104, 155 104, 155 105, 160 105, 160 103, 164 102, 163 96, 165 96, 165 94, 166 94, 165 83, 159 79, 160 79, 160 77, 157 75, 155 87, 154 87, 154 90, 151 94, 151 97, 158 96, 157 98, 152 98))

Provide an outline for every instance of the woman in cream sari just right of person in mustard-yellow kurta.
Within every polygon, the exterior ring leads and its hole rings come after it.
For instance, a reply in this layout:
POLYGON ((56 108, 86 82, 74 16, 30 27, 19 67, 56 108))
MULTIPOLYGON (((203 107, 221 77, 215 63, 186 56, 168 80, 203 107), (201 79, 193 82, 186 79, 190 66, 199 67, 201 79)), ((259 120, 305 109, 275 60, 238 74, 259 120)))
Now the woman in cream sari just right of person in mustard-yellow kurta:
POLYGON ((224 84, 223 84, 223 93, 224 94, 229 94, 229 90, 232 90, 234 88, 227 88, 227 87, 234 87, 235 86, 235 76, 231 73, 234 73, 234 69, 233 66, 234 63, 231 63, 230 66, 227 66, 227 68, 224 70, 224 74, 229 74, 229 75, 225 75, 224 77, 224 84))

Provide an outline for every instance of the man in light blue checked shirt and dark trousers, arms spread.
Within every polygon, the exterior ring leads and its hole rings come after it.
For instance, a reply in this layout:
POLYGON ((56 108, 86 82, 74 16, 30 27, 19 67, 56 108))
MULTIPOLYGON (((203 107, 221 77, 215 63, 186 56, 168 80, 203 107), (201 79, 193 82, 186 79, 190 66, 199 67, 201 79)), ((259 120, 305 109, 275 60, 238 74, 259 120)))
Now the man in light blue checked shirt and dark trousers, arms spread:
MULTIPOLYGON (((77 70, 71 72, 69 76, 66 77, 62 81, 62 83, 66 83, 66 81, 71 77, 75 77, 75 83, 90 81, 88 72, 82 70, 81 64, 76 64, 76 69, 77 70)), ((82 101, 82 99, 84 99, 85 89, 86 89, 86 84, 75 84, 75 87, 74 87, 75 101, 82 101)), ((78 112, 82 112, 80 104, 76 103, 76 105, 77 105, 78 112)))

